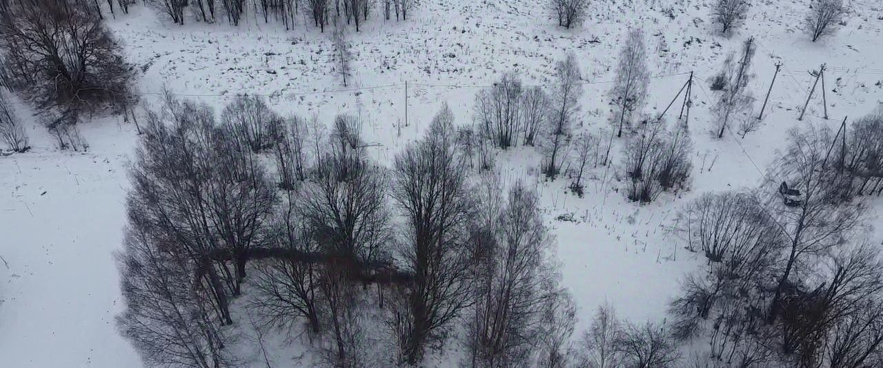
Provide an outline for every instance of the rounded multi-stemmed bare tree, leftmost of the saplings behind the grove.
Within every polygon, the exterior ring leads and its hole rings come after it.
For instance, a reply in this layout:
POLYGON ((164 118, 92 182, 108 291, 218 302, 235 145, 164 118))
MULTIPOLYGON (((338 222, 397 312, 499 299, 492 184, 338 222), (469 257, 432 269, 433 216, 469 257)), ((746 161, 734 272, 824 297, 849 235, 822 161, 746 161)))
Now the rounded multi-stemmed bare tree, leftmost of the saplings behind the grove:
POLYGON ((522 96, 524 88, 516 73, 504 73, 494 87, 479 91, 475 111, 482 134, 494 145, 507 149, 516 144, 524 119, 522 96))

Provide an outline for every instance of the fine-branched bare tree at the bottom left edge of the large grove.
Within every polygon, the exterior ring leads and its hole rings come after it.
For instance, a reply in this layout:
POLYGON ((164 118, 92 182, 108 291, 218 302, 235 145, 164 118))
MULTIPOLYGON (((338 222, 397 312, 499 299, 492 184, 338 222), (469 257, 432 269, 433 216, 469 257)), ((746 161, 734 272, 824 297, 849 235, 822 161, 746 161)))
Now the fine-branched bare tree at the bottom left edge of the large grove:
POLYGON ((145 364, 215 368, 234 364, 230 334, 213 317, 210 291, 192 280, 186 255, 156 246, 149 220, 130 213, 125 249, 117 255, 125 310, 117 317, 145 364))

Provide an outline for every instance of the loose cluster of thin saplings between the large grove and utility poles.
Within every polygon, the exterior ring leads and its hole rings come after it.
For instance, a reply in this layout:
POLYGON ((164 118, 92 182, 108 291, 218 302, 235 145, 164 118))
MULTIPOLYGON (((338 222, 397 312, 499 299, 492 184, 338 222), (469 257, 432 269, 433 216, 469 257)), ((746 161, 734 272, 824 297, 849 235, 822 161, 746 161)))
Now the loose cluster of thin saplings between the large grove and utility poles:
POLYGON ((614 137, 625 133, 628 142, 623 161, 629 178, 628 197, 651 202, 664 190, 686 185, 692 168, 692 143, 683 120, 671 127, 661 116, 636 122, 649 81, 644 36, 638 29, 630 32, 623 46, 608 94, 613 106, 613 131, 605 147, 601 138, 588 133, 580 121, 579 98, 585 80, 573 54, 555 66, 555 82, 549 93, 540 86, 523 85, 515 73, 505 73, 492 88, 476 96, 479 131, 464 129, 463 133, 481 139, 467 150, 477 152, 479 165, 487 168, 493 165, 493 147, 508 149, 519 142, 538 147, 543 156, 542 173, 550 180, 569 174, 570 188, 582 196, 588 166, 608 165, 614 137))

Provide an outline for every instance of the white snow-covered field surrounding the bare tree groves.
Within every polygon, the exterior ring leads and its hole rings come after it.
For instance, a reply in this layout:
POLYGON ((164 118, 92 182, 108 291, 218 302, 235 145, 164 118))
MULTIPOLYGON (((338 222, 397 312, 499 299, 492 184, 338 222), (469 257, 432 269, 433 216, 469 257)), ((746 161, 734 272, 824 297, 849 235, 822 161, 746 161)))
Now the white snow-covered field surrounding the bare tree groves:
MULTIPOLYGON (((540 192, 563 284, 579 307, 577 331, 601 303, 615 305, 624 318, 665 318, 683 273, 701 262, 668 232, 680 205, 709 191, 761 184, 790 127, 808 122, 836 127, 843 117, 863 116, 883 103, 883 4, 873 0, 849 2, 846 25, 814 43, 803 30, 802 0, 754 2, 745 27, 729 39, 713 34, 706 0, 596 1, 589 19, 572 30, 555 27, 544 1, 422 3, 413 19, 374 17, 363 32, 351 35, 355 75, 346 88, 336 74, 328 35, 306 19, 292 31, 254 18, 240 27, 195 21, 177 26, 138 4, 108 23, 140 70, 144 103, 158 103, 166 87, 218 110, 232 96, 248 93, 267 96, 276 111, 318 114, 326 122, 340 112, 358 114, 368 123, 367 141, 377 143, 371 154, 381 162, 418 138, 442 102, 459 124, 471 124, 475 93, 503 72, 551 87, 555 61, 570 51, 586 81, 577 130, 608 129, 606 94, 616 55, 626 30, 643 27, 653 74, 646 113, 664 109, 689 73, 696 78, 689 191, 648 205, 630 203, 619 181, 623 169, 614 166, 609 172, 594 169, 585 197, 578 198, 567 190, 568 180, 540 178, 539 155, 531 149, 498 157, 505 180, 535 183, 540 192), (666 7, 673 11, 663 12, 666 7), (766 93, 774 63, 781 60, 783 67, 765 124, 744 139, 727 134, 717 140, 707 132, 712 92, 706 80, 750 35, 758 44, 749 84, 755 96, 766 93), (828 67, 830 119, 821 119, 816 97, 804 121, 797 121, 814 79, 807 72, 822 63, 828 67)), ((36 126, 33 111, 17 106, 30 121, 34 149, 0 157, 0 366, 139 366, 114 323, 122 301, 113 253, 125 226, 126 165, 137 142, 135 127, 119 117, 96 118, 81 127, 87 152, 59 151, 36 126)), ((615 142, 613 157, 619 157, 621 145, 615 142)), ((880 202, 873 203, 878 211, 872 211, 872 223, 883 213, 880 202)), ((875 243, 883 239, 879 229, 874 236, 875 243)), ((274 358, 287 366, 291 355, 274 358)))

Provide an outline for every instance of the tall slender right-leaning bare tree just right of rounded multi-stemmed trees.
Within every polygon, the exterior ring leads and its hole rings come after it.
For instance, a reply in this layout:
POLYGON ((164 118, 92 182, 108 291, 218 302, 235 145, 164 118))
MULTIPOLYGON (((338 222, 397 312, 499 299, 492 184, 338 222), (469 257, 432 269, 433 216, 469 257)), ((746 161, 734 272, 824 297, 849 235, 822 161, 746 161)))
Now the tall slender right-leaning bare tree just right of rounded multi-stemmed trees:
POLYGON ((583 87, 580 84, 582 73, 579 72, 576 55, 570 53, 564 60, 559 61, 555 65, 555 73, 555 92, 552 96, 552 108, 549 111, 546 128, 547 154, 543 163, 543 173, 553 180, 561 171, 559 165, 563 161, 562 151, 567 144, 570 125, 579 111, 579 97, 583 94, 583 87))

